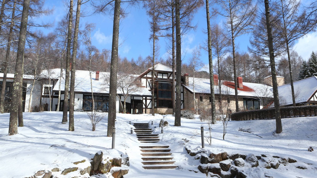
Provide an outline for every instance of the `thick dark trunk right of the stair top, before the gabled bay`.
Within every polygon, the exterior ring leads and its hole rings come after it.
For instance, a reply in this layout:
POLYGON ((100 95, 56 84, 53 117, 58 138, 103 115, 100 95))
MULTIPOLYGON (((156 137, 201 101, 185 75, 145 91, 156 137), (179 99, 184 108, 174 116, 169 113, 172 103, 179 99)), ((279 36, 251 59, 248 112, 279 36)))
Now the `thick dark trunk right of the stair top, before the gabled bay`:
POLYGON ((181 29, 180 29, 180 4, 179 0, 175 1, 176 17, 176 102, 175 102, 175 122, 174 126, 181 126, 181 73, 182 73, 182 54, 181 54, 181 29))

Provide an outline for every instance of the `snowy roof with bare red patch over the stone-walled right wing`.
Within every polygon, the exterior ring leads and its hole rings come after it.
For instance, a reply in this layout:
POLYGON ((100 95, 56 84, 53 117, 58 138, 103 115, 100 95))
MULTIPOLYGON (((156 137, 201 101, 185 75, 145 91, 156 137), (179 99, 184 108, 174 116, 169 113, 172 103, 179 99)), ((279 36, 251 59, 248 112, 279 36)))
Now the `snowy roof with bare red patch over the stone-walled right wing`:
MULTIPOLYGON (((210 79, 192 78, 189 77, 189 86, 185 86, 189 91, 196 93, 210 94, 210 79), (194 82, 193 82, 194 81, 194 82), (194 84, 194 85, 193 85, 194 84), (195 88, 193 88, 195 86, 195 88)), ((215 87, 215 94, 219 94, 219 87, 215 87)), ((261 98, 273 98, 273 93, 270 90, 271 86, 243 82, 243 88, 238 88, 238 96, 246 97, 261 97, 261 98)), ((224 95, 235 95, 235 84, 233 81, 222 80, 221 81, 221 93, 224 95)))

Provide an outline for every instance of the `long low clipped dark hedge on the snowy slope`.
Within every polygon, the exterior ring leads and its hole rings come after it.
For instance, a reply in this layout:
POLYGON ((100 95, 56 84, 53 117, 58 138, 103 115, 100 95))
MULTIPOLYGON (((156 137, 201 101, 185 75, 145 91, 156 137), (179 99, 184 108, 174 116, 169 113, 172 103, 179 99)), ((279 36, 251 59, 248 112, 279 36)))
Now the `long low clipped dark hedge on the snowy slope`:
MULTIPOLYGON (((281 118, 317 116, 317 105, 281 107, 281 118)), ((234 112, 231 120, 275 119, 275 108, 234 112)))

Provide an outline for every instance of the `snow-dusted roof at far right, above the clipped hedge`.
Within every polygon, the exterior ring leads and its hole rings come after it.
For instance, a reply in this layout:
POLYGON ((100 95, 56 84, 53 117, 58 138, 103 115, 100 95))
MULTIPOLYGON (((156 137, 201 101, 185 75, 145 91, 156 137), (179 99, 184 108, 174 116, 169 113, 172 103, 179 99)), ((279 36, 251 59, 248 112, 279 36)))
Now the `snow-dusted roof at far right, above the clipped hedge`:
MULTIPOLYGON (((291 84, 285 84, 277 87, 280 99, 280 105, 292 105, 291 84)), ((294 82, 295 103, 307 102, 310 97, 317 91, 317 77, 309 77, 294 82)), ((274 106, 274 105, 272 105, 274 106)))

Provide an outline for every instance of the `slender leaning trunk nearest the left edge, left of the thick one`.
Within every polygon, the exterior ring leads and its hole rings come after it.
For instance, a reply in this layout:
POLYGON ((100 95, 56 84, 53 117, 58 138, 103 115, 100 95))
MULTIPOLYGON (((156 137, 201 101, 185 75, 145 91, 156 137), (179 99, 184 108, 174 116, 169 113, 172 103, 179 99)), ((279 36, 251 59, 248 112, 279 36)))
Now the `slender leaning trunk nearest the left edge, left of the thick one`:
POLYGON ((5 97, 4 95, 5 95, 5 88, 6 88, 6 82, 7 82, 8 61, 9 61, 10 50, 11 50, 11 40, 12 40, 12 34, 13 34, 15 11, 16 11, 16 0, 13 3, 7 50, 5 54, 5 61, 3 61, 3 82, 2 82, 1 95, 0 95, 0 113, 4 112, 4 97, 5 97))

